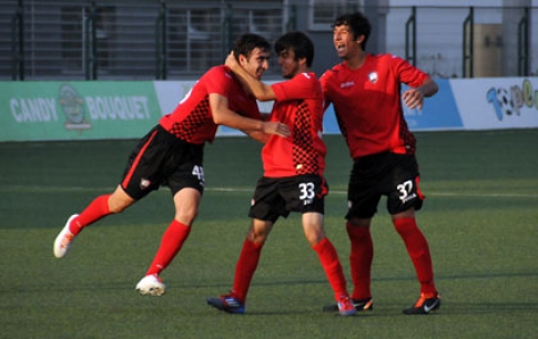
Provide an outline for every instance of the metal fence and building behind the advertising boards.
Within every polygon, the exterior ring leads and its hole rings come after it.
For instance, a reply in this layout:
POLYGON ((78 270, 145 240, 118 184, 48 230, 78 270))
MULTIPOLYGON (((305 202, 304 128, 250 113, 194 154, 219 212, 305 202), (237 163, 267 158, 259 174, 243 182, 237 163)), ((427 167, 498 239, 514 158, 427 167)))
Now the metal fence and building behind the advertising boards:
MULTIPOLYGON (((339 60, 336 14, 373 21, 376 52, 406 58, 435 76, 538 74, 538 8, 361 6, 362 1, 0 0, 0 80, 193 78, 222 63, 241 33, 274 41, 288 30, 316 43, 314 70, 339 60), (532 34, 534 33, 534 34, 532 34)), ((268 74, 278 74, 275 58, 268 74)))

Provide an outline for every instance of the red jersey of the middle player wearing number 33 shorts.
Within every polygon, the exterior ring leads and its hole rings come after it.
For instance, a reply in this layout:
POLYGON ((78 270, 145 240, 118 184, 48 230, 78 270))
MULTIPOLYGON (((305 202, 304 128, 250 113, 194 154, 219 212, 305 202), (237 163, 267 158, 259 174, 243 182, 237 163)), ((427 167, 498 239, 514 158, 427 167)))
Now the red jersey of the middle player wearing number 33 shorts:
POLYGON ((319 81, 314 73, 301 73, 271 88, 276 96, 271 121, 286 124, 291 135, 271 135, 264 145, 264 176, 323 175, 326 147, 322 140, 324 109, 319 81))

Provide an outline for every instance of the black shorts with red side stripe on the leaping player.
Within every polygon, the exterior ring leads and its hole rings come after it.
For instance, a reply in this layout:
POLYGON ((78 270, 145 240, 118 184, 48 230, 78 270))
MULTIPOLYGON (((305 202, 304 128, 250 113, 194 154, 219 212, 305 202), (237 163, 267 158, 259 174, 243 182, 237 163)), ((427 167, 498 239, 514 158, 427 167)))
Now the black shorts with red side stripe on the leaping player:
POLYGON ((129 156, 121 186, 134 199, 161 185, 169 186, 173 195, 184 187, 203 193, 203 144, 190 144, 156 125, 129 156))

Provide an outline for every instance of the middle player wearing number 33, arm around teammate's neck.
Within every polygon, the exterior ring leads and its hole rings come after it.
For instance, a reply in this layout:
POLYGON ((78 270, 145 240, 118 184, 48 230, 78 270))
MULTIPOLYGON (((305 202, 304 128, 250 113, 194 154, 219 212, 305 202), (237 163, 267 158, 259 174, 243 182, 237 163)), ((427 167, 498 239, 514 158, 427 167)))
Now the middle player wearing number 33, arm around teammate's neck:
MULTIPOLYGON (((290 32, 278 38, 274 50, 287 81, 273 85, 245 72, 232 54, 226 59, 226 65, 247 84, 256 99, 275 101, 270 120, 287 124, 291 136, 270 136, 262 150, 264 174, 254 192, 248 214, 252 224, 235 267, 233 289, 229 295, 209 298, 207 304, 230 314, 245 311, 248 287, 274 223, 281 216, 298 212, 306 239, 333 288, 337 309, 341 315, 351 316, 356 310, 346 289, 338 255, 323 227, 324 196, 328 187, 323 177, 326 153, 321 138, 323 92, 317 76, 309 71, 314 44, 306 34, 290 32)), ((238 55, 238 61, 243 58, 238 55)))

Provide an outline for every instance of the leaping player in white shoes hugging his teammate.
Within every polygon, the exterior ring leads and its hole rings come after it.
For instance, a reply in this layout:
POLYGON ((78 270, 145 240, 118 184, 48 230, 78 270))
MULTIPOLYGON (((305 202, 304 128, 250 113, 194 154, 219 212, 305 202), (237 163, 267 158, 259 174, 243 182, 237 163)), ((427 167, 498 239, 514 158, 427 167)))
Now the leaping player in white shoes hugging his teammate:
MULTIPOLYGON (((237 39, 234 51, 241 58, 241 66, 261 79, 268 68, 271 45, 267 40, 244 34, 237 39)), ((80 215, 69 218, 54 242, 54 256, 63 257, 84 227, 123 212, 159 186, 166 185, 173 194, 175 216, 146 275, 136 285, 141 294, 162 295, 165 286, 159 275, 181 249, 199 213, 205 185, 204 145, 213 142, 217 125, 242 130, 261 142, 265 142, 270 134, 277 137, 290 134, 283 123, 262 121, 256 100, 227 66, 210 69, 175 110, 163 116, 139 142, 115 191, 98 196, 80 215)))

